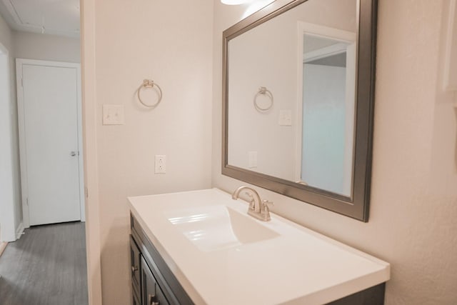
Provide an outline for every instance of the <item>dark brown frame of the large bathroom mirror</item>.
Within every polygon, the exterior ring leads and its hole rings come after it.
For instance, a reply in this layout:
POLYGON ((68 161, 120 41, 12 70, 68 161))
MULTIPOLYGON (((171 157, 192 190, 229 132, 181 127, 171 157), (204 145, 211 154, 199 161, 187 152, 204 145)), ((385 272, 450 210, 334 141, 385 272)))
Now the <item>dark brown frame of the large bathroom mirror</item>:
POLYGON ((306 1, 276 0, 224 31, 222 50, 222 174, 367 222, 373 146, 377 0, 358 0, 356 119, 351 196, 342 196, 228 164, 229 41, 306 1))

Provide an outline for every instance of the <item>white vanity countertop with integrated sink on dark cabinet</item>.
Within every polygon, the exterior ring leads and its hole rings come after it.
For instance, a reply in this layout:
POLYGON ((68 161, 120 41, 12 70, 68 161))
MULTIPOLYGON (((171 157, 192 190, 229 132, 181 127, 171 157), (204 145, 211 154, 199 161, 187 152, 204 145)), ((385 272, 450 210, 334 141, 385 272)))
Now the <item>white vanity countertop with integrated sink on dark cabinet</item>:
POLYGON ((385 261, 219 189, 129 197, 131 213, 196 304, 325 304, 388 281, 385 261))

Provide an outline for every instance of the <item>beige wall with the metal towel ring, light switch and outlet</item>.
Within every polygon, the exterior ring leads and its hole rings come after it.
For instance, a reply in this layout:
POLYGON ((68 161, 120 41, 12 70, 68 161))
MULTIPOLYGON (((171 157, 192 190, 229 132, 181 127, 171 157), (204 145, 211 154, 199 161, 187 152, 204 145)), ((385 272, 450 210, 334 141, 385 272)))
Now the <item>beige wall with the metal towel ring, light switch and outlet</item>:
POLYGON ((82 29, 89 277, 97 280, 100 251, 104 304, 129 304, 126 197, 211 187, 213 1, 90 2, 82 29), (156 109, 136 100, 143 79, 161 86, 156 109), (101 125, 103 104, 124 105, 126 124, 101 125), (166 174, 154 174, 156 154, 167 156, 166 174))

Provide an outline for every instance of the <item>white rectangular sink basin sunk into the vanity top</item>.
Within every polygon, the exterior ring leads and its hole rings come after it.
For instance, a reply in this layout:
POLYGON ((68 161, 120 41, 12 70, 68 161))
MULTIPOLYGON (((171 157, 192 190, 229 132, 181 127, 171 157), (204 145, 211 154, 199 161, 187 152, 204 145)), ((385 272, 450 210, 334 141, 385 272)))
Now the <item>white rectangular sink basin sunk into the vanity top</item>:
POLYGON ((279 236, 251 216, 225 205, 166 211, 165 216, 201 251, 228 249, 279 236))

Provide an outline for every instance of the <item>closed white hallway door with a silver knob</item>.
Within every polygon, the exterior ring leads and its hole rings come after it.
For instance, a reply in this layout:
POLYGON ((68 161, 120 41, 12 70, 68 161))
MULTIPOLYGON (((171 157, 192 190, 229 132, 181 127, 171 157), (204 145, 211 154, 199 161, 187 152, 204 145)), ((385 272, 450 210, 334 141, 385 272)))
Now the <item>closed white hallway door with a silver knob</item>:
POLYGON ((18 59, 17 72, 29 225, 80 220, 79 64, 18 59))

